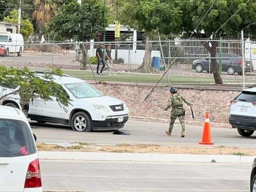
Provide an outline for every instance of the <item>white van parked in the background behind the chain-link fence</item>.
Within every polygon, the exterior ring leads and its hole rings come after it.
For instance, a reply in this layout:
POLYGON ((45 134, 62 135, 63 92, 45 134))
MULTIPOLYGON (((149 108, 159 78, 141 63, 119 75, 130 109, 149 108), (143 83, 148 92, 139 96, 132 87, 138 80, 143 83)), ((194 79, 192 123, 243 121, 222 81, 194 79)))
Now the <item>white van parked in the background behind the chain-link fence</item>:
POLYGON ((0 31, 0 46, 5 48, 4 56, 9 56, 9 53, 17 53, 20 57, 24 50, 23 36, 21 34, 0 31))

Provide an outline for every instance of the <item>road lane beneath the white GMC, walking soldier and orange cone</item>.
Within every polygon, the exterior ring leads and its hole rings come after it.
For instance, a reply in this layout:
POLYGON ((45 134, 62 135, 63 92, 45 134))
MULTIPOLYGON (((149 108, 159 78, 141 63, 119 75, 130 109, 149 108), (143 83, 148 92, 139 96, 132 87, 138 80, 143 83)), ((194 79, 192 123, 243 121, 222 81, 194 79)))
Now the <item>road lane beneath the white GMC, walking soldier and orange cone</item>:
MULTIPOLYGON (((175 124, 171 137, 165 135, 169 125, 129 120, 122 129, 130 135, 114 135, 113 132, 74 132, 71 127, 60 124, 39 124, 30 122, 38 142, 89 142, 95 144, 157 144, 168 146, 202 146, 198 144, 202 138, 203 125, 186 126, 186 137, 180 138, 180 124, 175 124)), ((256 148, 256 134, 245 138, 238 134, 236 129, 213 128, 212 142, 214 146, 235 146, 256 148)), ((205 146, 205 145, 204 145, 205 146)))

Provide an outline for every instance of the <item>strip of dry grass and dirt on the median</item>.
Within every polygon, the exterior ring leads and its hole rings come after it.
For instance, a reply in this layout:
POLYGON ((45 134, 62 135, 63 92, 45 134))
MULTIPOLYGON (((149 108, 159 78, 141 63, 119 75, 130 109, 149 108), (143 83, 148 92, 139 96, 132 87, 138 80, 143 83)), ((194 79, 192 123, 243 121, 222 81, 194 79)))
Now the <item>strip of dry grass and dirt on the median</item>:
POLYGON ((114 153, 160 153, 160 154, 196 154, 196 155, 240 155, 256 156, 256 149, 232 147, 172 147, 159 145, 89 145, 79 144, 71 148, 57 145, 37 144, 39 151, 79 151, 79 152, 114 152, 114 153))

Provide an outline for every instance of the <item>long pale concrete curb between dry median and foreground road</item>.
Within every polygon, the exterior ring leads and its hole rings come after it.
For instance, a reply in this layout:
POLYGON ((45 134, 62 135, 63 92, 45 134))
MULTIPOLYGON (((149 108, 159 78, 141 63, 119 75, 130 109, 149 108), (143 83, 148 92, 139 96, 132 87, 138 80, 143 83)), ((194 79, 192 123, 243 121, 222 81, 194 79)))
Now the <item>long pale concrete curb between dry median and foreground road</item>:
POLYGON ((39 151, 44 160, 84 160, 84 161, 137 161, 137 162, 183 162, 183 163, 252 163, 254 156, 234 155, 190 155, 154 153, 93 153, 93 152, 53 152, 39 151))

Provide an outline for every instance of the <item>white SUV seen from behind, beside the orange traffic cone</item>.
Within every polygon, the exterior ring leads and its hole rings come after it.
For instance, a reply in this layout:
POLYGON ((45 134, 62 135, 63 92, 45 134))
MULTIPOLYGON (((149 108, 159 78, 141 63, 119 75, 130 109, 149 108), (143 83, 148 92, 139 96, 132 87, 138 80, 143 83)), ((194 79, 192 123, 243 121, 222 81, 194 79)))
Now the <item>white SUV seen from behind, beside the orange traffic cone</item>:
POLYGON ((240 135, 250 137, 256 130, 256 88, 242 90, 230 101, 229 123, 240 135))

